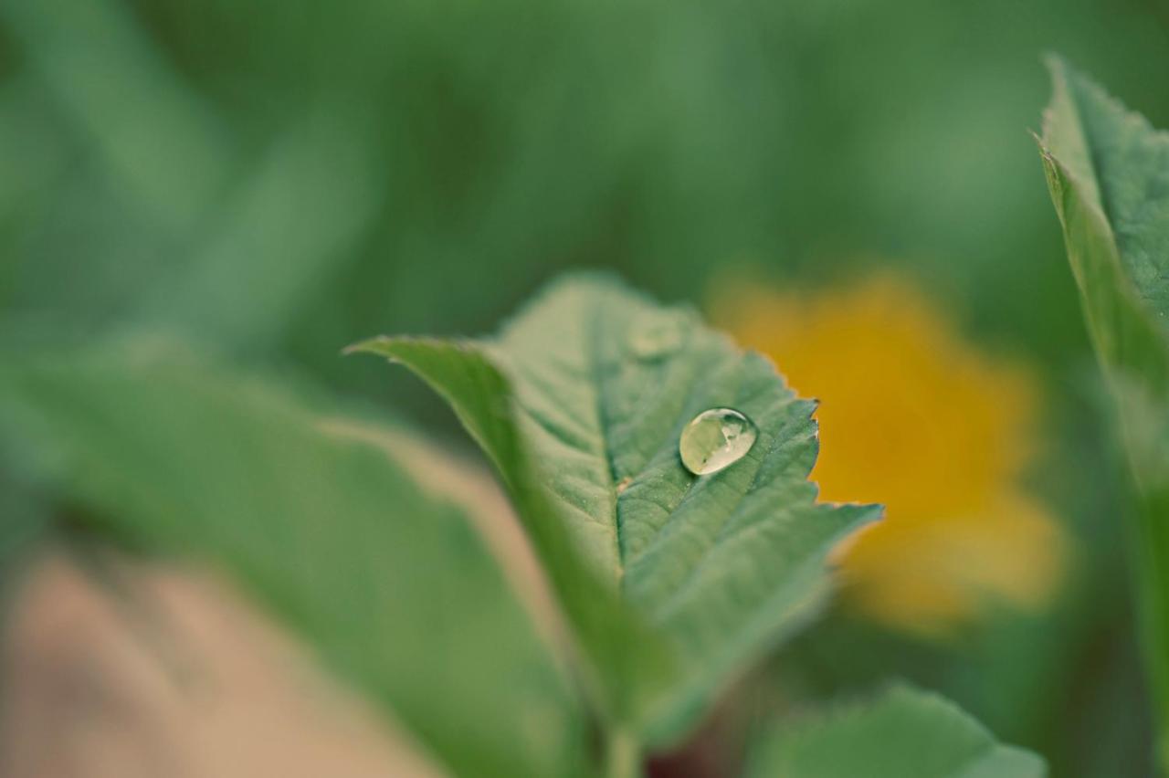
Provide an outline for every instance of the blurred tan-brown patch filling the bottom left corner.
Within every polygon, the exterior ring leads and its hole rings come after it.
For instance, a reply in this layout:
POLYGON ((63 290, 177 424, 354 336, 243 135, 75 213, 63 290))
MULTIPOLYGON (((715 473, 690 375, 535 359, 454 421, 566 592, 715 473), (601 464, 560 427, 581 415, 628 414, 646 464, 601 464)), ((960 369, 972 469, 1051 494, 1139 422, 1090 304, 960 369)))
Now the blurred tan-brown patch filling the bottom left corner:
POLYGON ((4 641, 4 778, 429 778, 400 729, 205 574, 37 565, 4 641))

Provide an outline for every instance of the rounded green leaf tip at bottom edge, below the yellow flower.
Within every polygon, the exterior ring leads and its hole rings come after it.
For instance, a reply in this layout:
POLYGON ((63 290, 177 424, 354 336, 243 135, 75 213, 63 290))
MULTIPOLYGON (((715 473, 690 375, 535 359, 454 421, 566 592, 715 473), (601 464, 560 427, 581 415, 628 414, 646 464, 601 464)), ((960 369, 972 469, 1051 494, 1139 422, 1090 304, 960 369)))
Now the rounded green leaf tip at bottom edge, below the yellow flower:
POLYGON ((1001 745, 948 700, 892 686, 863 703, 783 722, 756 739, 745 778, 1043 778, 1035 753, 1001 745))

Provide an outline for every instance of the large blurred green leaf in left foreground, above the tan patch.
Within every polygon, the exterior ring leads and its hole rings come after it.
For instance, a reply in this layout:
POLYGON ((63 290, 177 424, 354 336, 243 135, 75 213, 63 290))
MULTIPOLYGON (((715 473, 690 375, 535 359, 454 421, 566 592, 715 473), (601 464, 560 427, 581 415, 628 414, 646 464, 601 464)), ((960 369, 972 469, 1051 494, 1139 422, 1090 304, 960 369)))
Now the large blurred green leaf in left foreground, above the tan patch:
POLYGON ((137 346, 0 370, 11 439, 101 536, 228 572, 455 774, 577 774, 579 702, 471 523, 510 520, 502 499, 472 516, 490 479, 443 482, 402 431, 137 346))

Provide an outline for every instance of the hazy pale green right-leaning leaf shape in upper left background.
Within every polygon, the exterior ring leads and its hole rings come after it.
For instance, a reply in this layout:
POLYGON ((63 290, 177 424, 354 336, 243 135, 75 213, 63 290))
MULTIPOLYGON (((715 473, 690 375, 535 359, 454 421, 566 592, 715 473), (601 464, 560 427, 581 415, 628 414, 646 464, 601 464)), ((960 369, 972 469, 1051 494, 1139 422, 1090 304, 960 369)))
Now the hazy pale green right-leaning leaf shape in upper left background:
POLYGON ((185 266, 145 297, 141 321, 271 347, 316 285, 347 264, 379 203, 368 144, 339 116, 310 113, 240 176, 185 266))

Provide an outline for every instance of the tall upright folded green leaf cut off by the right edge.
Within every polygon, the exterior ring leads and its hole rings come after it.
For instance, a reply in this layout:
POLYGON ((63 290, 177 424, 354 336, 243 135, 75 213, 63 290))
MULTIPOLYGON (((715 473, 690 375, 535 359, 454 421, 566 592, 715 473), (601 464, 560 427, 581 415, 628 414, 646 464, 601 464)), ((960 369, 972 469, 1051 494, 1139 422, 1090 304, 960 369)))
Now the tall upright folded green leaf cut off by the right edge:
POLYGON ((1169 769, 1169 133, 1060 60, 1050 67, 1040 152, 1141 493, 1137 596, 1169 769))

